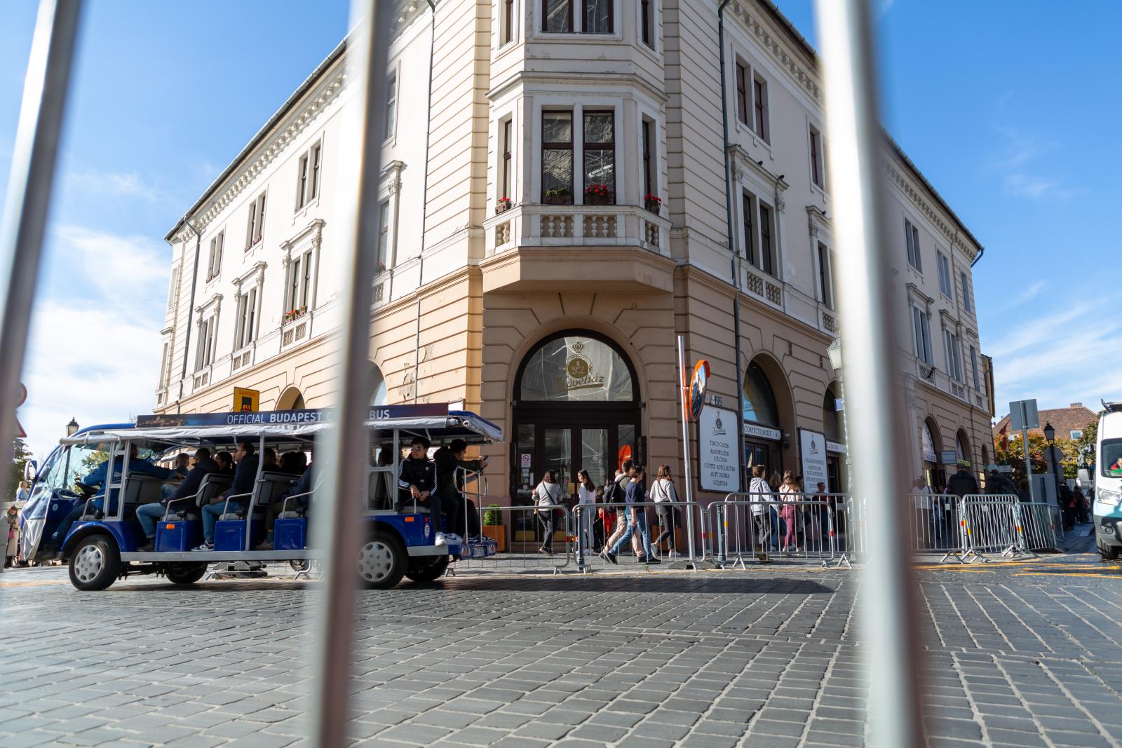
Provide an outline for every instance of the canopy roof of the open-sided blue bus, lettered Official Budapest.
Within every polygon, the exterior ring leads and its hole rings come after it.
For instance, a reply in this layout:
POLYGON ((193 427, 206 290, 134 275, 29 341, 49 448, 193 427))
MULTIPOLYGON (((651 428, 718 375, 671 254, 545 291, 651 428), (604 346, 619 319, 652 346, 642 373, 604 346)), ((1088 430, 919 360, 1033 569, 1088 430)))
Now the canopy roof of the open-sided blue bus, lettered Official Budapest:
MULTIPOLYGON (((136 426, 90 428, 59 440, 59 444, 91 444, 125 440, 166 443, 311 440, 330 428, 331 408, 263 410, 258 413, 180 413, 145 415, 136 426)), ((433 441, 462 438, 468 443, 502 442, 503 430, 469 410, 449 410, 447 404, 370 406, 366 427, 376 438, 395 431, 433 441)))

